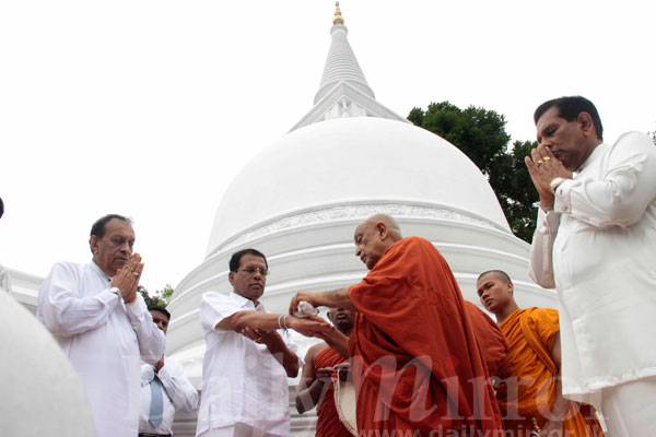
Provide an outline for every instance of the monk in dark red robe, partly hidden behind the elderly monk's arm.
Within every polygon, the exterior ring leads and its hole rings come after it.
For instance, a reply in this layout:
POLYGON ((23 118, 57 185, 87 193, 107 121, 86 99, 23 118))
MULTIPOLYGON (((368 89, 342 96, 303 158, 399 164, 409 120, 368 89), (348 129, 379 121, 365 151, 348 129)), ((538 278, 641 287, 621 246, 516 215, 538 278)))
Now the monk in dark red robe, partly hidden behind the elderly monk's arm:
MULTIPOLYGON (((330 308, 328 318, 342 336, 348 338, 353 331, 355 311, 330 308)), ((296 394, 296 410, 303 414, 318 405, 315 434, 317 437, 351 437, 351 433, 339 420, 335 408, 332 385, 336 366, 344 362, 345 358, 328 343, 315 344, 305 355, 305 365, 296 394)))

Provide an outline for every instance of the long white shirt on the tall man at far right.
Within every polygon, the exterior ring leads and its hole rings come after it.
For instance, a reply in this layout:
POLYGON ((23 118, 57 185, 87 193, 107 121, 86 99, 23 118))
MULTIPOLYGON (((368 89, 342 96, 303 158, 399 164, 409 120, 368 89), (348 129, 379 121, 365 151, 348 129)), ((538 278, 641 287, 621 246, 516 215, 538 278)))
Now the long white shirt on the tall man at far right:
POLYGON ((656 375, 656 145, 598 145, 538 213, 530 275, 558 290, 563 393, 656 375))

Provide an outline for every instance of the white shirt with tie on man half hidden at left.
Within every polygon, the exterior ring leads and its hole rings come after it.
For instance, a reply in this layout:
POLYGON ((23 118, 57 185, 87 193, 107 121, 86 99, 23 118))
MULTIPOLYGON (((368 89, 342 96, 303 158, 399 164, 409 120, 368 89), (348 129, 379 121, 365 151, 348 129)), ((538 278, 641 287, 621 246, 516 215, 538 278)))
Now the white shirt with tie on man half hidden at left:
MULTIPOLYGON (((150 364, 141 366, 141 412, 139 433, 173 434, 173 421, 176 411, 191 413, 198 406, 198 392, 185 376, 183 366, 173 358, 164 358, 164 366, 157 371, 157 378, 164 387, 162 393, 162 423, 153 427, 149 422, 151 408, 151 381, 155 368, 150 364)), ((161 390, 161 389, 160 389, 161 390)))

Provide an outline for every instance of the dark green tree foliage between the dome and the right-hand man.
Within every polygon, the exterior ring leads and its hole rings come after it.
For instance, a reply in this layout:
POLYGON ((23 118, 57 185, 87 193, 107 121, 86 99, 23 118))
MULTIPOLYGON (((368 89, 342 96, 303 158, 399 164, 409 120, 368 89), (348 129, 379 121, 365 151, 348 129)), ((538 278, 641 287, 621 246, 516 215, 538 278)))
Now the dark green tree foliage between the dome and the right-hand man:
POLYGON ((537 146, 536 142, 515 141, 508 147, 505 117, 475 106, 460 109, 448 102, 431 103, 426 110, 412 108, 408 120, 469 156, 488 177, 513 233, 530 241, 539 198, 524 157, 537 146))

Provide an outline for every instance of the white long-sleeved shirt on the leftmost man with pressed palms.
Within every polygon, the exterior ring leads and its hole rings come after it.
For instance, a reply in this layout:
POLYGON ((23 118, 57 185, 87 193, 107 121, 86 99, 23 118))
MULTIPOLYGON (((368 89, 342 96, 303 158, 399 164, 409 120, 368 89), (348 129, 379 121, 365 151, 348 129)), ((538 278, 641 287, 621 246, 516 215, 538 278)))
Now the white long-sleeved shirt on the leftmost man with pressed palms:
POLYGON ((38 290, 36 317, 80 375, 98 437, 134 437, 141 359, 156 363, 166 341, 141 295, 126 305, 110 281, 94 262, 59 262, 38 290))

